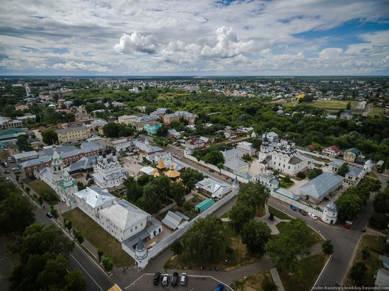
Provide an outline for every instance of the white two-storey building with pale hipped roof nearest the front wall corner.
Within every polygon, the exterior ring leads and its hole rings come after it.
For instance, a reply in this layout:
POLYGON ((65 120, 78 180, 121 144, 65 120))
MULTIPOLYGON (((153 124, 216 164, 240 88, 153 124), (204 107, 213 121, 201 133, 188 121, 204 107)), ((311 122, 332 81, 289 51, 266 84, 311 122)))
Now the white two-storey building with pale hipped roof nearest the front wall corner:
POLYGON ((146 228, 151 215, 125 200, 99 210, 99 223, 112 237, 122 242, 146 228))

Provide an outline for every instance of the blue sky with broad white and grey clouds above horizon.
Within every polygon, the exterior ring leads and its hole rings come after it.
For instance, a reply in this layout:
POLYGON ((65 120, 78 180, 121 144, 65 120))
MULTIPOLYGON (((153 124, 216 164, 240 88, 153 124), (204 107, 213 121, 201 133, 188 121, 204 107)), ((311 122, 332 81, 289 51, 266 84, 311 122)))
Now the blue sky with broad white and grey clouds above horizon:
POLYGON ((0 0, 0 75, 389 75, 389 0, 0 0))

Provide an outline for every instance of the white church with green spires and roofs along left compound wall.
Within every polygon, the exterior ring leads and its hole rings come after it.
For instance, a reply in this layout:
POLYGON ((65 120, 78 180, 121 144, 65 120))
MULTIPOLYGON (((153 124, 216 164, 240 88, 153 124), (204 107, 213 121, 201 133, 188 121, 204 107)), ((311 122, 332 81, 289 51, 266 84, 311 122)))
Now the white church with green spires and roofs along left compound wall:
POLYGON ((62 201, 69 206, 74 203, 74 193, 79 191, 76 180, 69 175, 67 170, 64 170, 62 158, 59 157, 55 146, 52 155, 50 167, 43 167, 42 163, 38 170, 35 170, 34 176, 36 179, 41 179, 46 182, 54 191, 57 192, 62 201))

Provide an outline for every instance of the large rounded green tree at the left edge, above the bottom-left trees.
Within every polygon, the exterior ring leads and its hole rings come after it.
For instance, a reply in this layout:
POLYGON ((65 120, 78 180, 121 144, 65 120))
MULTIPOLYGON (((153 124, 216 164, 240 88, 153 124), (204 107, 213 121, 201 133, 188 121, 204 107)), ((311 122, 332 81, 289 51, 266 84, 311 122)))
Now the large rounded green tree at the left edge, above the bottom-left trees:
POLYGON ((22 196, 18 191, 11 192, 0 201, 0 232, 23 232, 25 227, 35 221, 34 210, 27 196, 22 196))

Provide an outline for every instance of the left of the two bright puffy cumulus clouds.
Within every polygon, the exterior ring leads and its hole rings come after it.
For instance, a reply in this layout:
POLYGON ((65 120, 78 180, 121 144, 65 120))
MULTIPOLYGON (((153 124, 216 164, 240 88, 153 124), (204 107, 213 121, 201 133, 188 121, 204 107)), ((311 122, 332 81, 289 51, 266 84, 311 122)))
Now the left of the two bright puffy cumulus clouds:
POLYGON ((153 54, 156 51, 156 47, 156 37, 153 35, 141 35, 135 31, 131 35, 122 35, 119 43, 115 44, 114 49, 123 54, 133 54, 134 52, 153 54))

